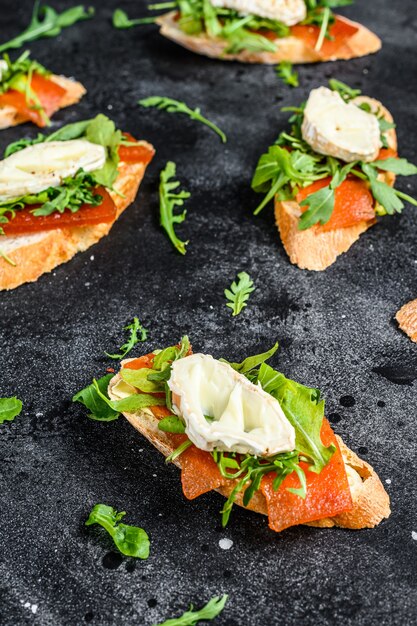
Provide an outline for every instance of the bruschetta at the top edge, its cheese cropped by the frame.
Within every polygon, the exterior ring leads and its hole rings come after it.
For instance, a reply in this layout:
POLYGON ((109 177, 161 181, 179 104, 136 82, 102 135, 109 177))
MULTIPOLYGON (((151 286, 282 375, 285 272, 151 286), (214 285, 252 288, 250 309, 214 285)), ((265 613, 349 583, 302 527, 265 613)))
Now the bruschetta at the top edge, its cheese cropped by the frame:
MULTIPOLYGON (((346 4, 345 2, 340 4, 346 4)), ((224 61, 275 64, 352 59, 377 52, 370 30, 327 0, 174 0, 156 18, 164 37, 224 61)))

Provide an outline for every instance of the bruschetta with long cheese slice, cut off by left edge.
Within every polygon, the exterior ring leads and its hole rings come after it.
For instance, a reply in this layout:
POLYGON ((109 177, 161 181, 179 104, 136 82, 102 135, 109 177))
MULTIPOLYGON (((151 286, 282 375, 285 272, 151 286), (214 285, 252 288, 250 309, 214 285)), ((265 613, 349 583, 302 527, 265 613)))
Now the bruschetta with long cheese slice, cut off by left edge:
POLYGON ((107 235, 153 155, 102 114, 11 144, 0 161, 0 290, 37 280, 107 235))

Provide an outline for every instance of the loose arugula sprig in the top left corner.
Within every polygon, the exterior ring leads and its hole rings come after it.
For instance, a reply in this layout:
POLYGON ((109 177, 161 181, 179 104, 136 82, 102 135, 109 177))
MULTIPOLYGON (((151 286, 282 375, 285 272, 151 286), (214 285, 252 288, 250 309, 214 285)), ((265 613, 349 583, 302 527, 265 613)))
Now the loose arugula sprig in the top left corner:
POLYGON ((40 6, 40 1, 36 0, 33 5, 32 18, 25 30, 10 41, 0 45, 0 52, 11 48, 20 48, 28 41, 35 41, 43 37, 57 37, 63 28, 72 26, 80 20, 89 19, 94 15, 92 7, 84 9, 82 5, 77 5, 58 13, 48 5, 40 6))

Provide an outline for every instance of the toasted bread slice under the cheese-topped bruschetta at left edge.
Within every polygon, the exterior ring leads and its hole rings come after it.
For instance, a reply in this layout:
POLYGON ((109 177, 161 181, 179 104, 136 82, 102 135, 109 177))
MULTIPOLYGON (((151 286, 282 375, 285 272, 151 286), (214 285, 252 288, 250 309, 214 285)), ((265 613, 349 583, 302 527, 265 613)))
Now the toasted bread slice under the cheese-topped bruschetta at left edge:
MULTIPOLYGON (((147 142, 143 143, 153 149, 147 142)), ((117 217, 134 201, 145 170, 146 165, 143 163, 119 164, 119 175, 114 187, 123 195, 110 193, 116 205, 117 217)), ((33 282, 57 265, 66 263, 77 252, 87 250, 107 235, 113 223, 60 228, 19 237, 1 237, 0 250, 16 265, 0 258, 0 291, 33 282)))

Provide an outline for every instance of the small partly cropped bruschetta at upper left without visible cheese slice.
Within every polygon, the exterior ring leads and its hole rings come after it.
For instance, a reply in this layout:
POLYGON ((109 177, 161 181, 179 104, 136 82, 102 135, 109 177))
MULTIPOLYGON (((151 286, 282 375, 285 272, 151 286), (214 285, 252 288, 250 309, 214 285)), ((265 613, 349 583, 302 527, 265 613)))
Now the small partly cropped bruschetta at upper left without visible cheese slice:
POLYGON ((24 52, 15 61, 0 60, 0 129, 33 122, 50 125, 58 109, 76 104, 86 93, 81 83, 57 76, 24 52))

